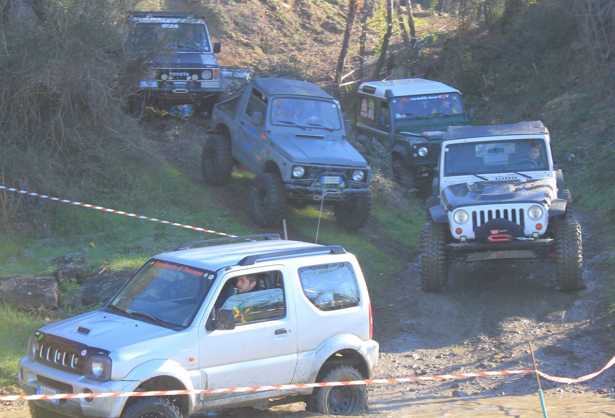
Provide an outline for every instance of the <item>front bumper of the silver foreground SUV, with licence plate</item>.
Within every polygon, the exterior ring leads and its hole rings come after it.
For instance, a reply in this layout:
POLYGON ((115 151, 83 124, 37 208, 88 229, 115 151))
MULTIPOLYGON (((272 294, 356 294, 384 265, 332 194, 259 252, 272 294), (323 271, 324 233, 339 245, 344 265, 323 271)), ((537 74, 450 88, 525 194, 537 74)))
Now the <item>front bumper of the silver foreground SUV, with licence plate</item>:
MULTIPOLYGON (((50 366, 37 363, 29 357, 19 361, 19 385, 25 395, 34 395, 38 385, 60 390, 71 387, 71 393, 110 393, 132 392, 140 382, 138 381, 108 381, 98 382, 86 379, 79 374, 58 370, 50 366)), ((52 400, 33 401, 42 408, 65 414, 69 417, 103 417, 117 418, 121 416, 122 409, 128 398, 83 398, 61 399, 58 402, 52 400)))

